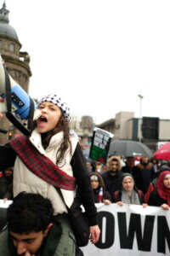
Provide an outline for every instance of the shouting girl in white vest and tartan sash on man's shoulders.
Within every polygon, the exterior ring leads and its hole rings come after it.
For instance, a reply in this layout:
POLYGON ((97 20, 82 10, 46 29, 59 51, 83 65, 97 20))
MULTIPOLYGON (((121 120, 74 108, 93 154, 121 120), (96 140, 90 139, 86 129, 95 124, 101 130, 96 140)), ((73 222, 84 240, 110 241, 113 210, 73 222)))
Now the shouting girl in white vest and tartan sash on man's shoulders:
POLYGON ((100 230, 91 183, 78 137, 69 127, 71 116, 67 104, 59 96, 50 94, 42 98, 38 109, 42 115, 34 121, 30 137, 15 137, 0 146, 0 166, 14 166, 14 196, 26 191, 39 193, 52 201, 54 216, 61 216, 59 222, 63 226, 59 256, 73 256, 76 250, 74 234, 64 201, 55 187, 60 189, 68 207, 71 207, 77 189, 88 218, 89 239, 95 243, 99 240, 100 230), (65 232, 65 226, 69 232, 65 232), (70 247, 63 244, 65 236, 70 247))

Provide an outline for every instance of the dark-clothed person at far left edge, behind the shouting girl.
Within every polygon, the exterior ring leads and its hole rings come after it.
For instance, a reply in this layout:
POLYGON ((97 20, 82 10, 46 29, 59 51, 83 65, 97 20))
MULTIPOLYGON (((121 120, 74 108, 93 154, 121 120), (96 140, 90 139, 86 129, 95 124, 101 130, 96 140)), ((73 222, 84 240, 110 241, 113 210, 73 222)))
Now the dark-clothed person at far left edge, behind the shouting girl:
POLYGON ((0 177, 0 199, 13 200, 13 197, 13 167, 8 167, 0 177))

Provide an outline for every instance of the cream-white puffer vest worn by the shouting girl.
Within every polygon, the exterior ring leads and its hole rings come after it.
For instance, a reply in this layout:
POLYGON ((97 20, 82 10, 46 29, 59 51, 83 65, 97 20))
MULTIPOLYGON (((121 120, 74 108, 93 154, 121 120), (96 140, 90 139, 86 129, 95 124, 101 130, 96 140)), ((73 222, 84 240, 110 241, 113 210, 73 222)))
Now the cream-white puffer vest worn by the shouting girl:
MULTIPOLYGON (((71 145, 72 145, 72 154, 77 147, 78 137, 74 132, 71 132, 71 145)), ((41 135, 39 132, 34 130, 31 134, 30 141, 34 145, 35 148, 43 154, 47 156, 50 160, 56 163, 56 154, 60 147, 60 144, 63 140, 63 132, 59 132, 55 134, 48 145, 48 148, 44 150, 42 147, 41 135)), ((61 164, 59 164, 60 169, 70 176, 73 176, 72 168, 71 168, 71 158, 72 154, 70 154, 69 149, 65 152, 65 158, 61 164)), ((37 177, 33 174, 20 160, 17 156, 14 163, 14 196, 18 195, 21 191, 26 191, 27 193, 38 193, 43 197, 46 197, 52 201, 54 207, 54 215, 62 212, 67 212, 63 201, 58 195, 57 191, 54 189, 53 185, 46 183, 40 177, 37 177)), ((71 207, 71 204, 74 200, 74 191, 61 189, 61 192, 65 198, 65 202, 68 207, 71 207)))

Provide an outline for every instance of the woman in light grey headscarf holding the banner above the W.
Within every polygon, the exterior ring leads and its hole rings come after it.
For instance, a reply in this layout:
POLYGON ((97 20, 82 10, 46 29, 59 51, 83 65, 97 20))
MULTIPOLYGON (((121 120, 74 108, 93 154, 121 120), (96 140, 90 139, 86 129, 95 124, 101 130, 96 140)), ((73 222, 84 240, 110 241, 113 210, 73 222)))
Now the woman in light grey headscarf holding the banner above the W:
MULTIPOLYGON (((120 178, 120 190, 115 191, 114 201, 122 206, 123 204, 143 205, 144 194, 135 186, 133 175, 124 173, 120 178)), ((146 205, 143 205, 146 207, 146 205)))

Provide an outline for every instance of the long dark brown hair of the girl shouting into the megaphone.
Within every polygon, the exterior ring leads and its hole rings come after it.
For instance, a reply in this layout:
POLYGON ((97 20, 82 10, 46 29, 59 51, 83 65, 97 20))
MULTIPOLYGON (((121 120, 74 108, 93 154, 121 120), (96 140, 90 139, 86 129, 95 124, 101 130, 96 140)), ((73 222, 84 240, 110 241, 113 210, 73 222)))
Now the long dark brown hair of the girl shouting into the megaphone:
MULTIPOLYGON (((36 127, 37 127, 37 122, 34 121, 34 123, 32 125, 32 131, 36 127)), ((48 133, 45 137, 42 136, 42 146, 44 148, 47 148, 51 137, 53 137, 54 134, 59 133, 59 131, 63 131, 63 141, 59 147, 59 150, 57 151, 56 165, 59 165, 62 162, 62 160, 64 160, 65 151, 67 150, 67 148, 70 148, 70 154, 72 153, 71 140, 69 137, 70 136, 70 126, 62 112, 61 112, 61 117, 59 119, 59 123, 56 125, 56 127, 52 131, 48 131, 48 133)))

